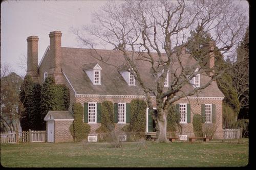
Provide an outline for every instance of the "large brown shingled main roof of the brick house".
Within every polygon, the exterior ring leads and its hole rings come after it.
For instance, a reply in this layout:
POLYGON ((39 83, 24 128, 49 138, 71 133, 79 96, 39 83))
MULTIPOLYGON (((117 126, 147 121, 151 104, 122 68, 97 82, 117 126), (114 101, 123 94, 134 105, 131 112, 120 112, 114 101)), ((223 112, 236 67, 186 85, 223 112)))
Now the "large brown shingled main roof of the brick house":
MULTIPOLYGON (((61 53, 61 69, 77 94, 145 95, 137 82, 136 86, 129 86, 120 75, 120 68, 122 68, 122 65, 125 65, 120 51, 97 50, 97 53, 95 53, 93 49, 61 47, 61 53), (98 54, 108 58, 108 62, 119 67, 115 68, 93 57, 97 57, 98 54), (97 63, 102 68, 101 85, 93 85, 87 74, 83 71, 84 69, 92 69, 97 63)), ((139 65, 138 69, 143 81, 148 86, 154 86, 155 78, 150 74, 150 63, 140 60, 137 61, 137 65, 139 65)), ((200 80, 202 82, 207 81, 209 77, 202 75, 200 80)), ((186 91, 191 88, 193 87, 188 85, 184 86, 182 90, 186 91)), ((224 97, 216 82, 212 82, 210 86, 194 96, 224 97)))

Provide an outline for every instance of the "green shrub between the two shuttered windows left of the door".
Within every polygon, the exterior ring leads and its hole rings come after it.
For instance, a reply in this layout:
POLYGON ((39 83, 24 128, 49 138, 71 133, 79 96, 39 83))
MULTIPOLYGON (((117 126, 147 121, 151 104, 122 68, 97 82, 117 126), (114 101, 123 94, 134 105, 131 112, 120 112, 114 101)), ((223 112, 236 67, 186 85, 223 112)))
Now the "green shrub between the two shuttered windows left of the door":
POLYGON ((108 133, 115 129, 114 105, 111 101, 104 101, 101 104, 101 126, 96 132, 108 133))

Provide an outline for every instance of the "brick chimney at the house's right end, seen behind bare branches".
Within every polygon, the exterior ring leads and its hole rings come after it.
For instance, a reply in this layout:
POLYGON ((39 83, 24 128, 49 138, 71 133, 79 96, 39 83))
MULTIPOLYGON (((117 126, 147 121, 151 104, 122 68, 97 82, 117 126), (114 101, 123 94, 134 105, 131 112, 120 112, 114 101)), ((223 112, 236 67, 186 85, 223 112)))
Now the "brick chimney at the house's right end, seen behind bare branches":
MULTIPOLYGON (((203 64, 206 69, 212 69, 215 66, 214 45, 214 41, 208 41, 203 43, 203 49, 207 53, 203 59, 203 64)), ((209 72, 209 75, 213 75, 214 70, 209 70, 206 72, 209 72)))

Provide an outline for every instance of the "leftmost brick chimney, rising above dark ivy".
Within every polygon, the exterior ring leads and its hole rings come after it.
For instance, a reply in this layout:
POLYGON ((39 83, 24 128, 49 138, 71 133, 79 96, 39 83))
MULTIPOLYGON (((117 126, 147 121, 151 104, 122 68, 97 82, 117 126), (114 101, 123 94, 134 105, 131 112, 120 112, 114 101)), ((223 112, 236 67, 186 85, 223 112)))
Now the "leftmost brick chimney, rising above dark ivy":
POLYGON ((37 63, 38 63, 38 37, 30 36, 27 38, 28 42, 28 56, 27 56, 27 75, 37 77, 37 63))

